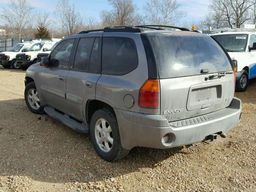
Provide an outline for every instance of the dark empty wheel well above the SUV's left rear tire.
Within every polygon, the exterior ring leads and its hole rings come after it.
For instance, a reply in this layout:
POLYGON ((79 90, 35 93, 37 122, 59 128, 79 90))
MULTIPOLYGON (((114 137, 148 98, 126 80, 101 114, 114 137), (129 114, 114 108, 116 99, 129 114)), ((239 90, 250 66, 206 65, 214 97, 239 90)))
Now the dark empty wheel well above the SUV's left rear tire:
MULTIPOLYGON (((91 118, 92 118, 92 115, 94 114, 94 112, 98 109, 102 109, 102 108, 111 108, 113 110, 113 108, 102 102, 102 101, 99 101, 99 100, 89 100, 87 103, 86 103, 86 122, 88 124, 90 124, 90 121, 91 121, 91 118)), ((114 110, 113 110, 114 112, 114 110)))

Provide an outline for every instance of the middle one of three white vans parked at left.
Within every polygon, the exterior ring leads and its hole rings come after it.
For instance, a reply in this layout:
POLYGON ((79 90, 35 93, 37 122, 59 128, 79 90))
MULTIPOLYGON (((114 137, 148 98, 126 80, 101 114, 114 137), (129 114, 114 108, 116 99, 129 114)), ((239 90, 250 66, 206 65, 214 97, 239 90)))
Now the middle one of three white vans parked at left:
POLYGON ((26 70, 30 65, 37 62, 38 53, 50 51, 55 43, 54 41, 44 40, 33 44, 28 52, 16 55, 17 65, 26 70))

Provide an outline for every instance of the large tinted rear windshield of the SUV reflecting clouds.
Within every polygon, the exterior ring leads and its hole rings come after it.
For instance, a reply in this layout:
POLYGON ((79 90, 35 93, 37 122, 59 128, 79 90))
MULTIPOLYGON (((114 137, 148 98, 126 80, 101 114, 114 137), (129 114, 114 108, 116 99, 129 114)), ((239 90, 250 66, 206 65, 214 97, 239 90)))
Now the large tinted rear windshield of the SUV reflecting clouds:
POLYGON ((208 36, 170 35, 149 37, 156 56, 159 78, 174 78, 232 70, 222 48, 208 36))

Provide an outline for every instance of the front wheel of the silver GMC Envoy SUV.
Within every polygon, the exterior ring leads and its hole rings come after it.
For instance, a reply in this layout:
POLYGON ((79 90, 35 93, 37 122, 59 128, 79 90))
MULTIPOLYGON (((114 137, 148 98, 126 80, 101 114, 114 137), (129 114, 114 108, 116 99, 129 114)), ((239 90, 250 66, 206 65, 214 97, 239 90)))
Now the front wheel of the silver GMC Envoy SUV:
POLYGON ((35 82, 30 82, 26 85, 24 97, 26 104, 31 112, 36 114, 44 114, 44 107, 41 105, 41 102, 38 98, 35 82))

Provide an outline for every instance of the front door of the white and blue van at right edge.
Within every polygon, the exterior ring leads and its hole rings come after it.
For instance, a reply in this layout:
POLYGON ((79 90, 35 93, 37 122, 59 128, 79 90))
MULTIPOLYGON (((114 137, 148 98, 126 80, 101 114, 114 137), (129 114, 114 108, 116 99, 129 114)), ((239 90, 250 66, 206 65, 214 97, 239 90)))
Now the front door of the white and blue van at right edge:
MULTIPOLYGON (((253 43, 256 43, 256 35, 252 34, 250 36, 250 41, 249 41, 249 46, 252 47, 253 43)), ((249 52, 249 61, 250 61, 250 74, 249 78, 254 78, 256 77, 256 50, 251 50, 249 52)))

